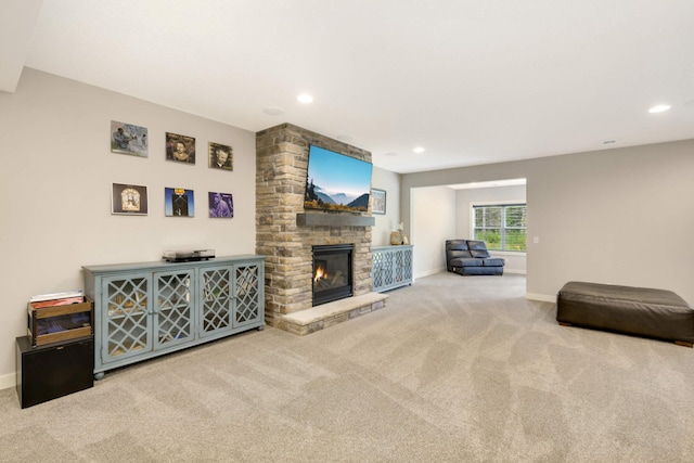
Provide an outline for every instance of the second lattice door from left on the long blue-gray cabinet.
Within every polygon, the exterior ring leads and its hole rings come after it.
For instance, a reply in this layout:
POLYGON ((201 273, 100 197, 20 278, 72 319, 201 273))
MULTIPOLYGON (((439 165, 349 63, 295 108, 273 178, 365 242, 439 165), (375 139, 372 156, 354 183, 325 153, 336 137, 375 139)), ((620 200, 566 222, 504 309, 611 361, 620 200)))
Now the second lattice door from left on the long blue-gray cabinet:
POLYGON ((154 348, 165 348, 193 338, 194 270, 155 273, 154 348))

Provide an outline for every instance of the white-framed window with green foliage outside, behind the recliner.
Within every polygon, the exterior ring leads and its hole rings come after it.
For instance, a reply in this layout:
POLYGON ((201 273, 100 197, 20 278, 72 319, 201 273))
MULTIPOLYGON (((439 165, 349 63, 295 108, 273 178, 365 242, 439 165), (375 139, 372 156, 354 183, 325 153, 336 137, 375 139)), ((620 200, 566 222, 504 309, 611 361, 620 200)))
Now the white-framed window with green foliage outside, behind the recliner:
POLYGON ((487 243, 488 249, 525 253, 525 204, 473 206, 473 236, 487 243))

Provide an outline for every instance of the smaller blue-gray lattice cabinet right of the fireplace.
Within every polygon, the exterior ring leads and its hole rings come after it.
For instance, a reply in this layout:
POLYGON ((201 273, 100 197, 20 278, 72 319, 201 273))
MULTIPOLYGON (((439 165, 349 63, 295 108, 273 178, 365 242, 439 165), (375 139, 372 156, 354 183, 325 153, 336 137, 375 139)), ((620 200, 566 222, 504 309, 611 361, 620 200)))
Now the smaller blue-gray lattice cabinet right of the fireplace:
POLYGON ((413 247, 410 244, 371 249, 371 283, 374 292, 383 293, 412 284, 413 247))

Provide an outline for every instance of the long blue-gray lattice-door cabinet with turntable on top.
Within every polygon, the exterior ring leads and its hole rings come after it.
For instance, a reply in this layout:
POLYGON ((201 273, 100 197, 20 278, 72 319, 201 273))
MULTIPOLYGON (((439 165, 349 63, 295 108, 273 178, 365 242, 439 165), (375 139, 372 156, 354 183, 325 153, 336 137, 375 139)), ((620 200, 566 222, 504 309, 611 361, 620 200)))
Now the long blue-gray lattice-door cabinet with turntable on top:
POLYGON ((265 257, 85 266, 94 301, 94 377, 265 326, 265 257))

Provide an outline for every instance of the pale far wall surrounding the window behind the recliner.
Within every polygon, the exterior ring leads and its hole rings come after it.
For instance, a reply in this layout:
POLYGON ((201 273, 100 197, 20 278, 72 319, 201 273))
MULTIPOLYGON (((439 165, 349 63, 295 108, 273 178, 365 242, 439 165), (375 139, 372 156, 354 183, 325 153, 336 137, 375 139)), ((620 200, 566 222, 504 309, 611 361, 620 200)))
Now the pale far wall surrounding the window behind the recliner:
MULTIPOLYGON (((472 206, 475 204, 500 203, 506 201, 526 201, 525 185, 473 188, 457 191, 457 221, 455 236, 471 239, 472 233, 472 206)), ((499 253, 491 250, 492 256, 505 259, 504 273, 526 273, 525 253, 499 253)))

